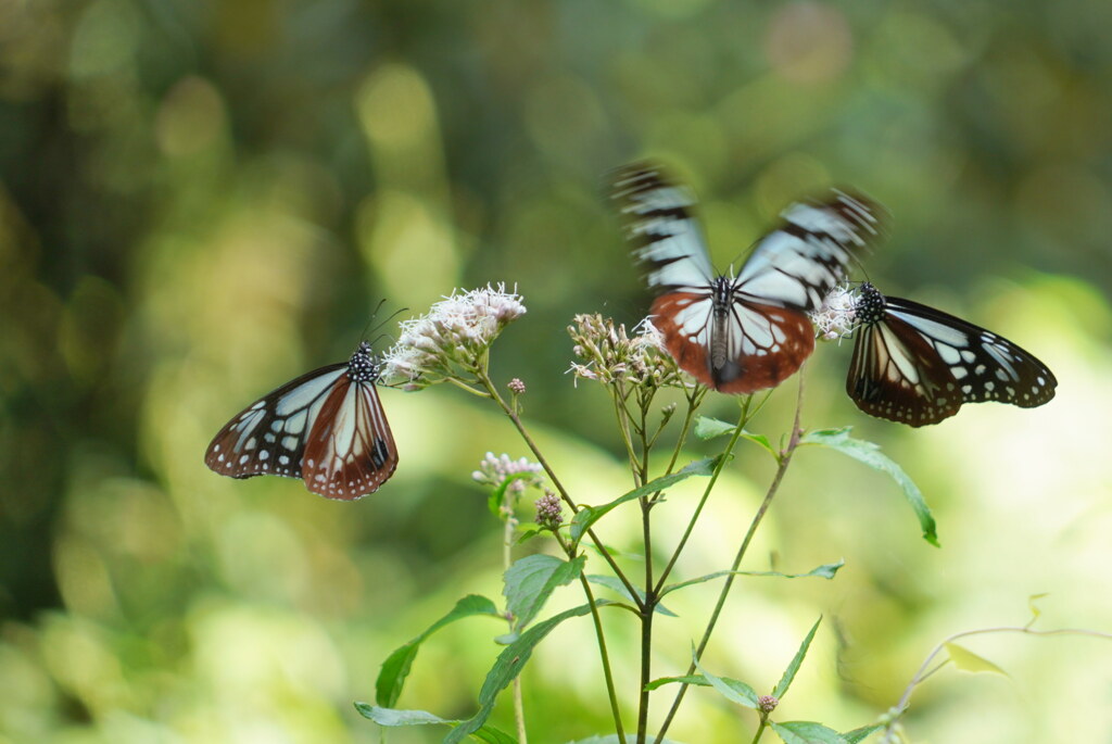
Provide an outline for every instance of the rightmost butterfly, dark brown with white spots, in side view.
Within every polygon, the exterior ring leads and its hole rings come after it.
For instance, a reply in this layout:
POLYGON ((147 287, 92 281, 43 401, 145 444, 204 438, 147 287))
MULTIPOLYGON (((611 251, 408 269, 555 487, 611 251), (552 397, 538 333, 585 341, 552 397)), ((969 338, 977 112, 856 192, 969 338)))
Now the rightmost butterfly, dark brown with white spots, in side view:
POLYGON ((846 393, 866 414, 924 426, 963 403, 999 400, 1023 408, 1054 397, 1046 365, 1006 338, 961 318, 863 284, 846 393))

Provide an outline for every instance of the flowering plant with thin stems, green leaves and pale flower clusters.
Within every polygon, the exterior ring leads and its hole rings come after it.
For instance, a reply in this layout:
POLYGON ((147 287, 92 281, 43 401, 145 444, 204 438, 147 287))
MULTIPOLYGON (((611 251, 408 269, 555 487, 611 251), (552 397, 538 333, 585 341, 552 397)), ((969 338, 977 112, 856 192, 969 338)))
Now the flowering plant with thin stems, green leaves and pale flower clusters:
MULTIPOLYGON (((835 287, 822 307, 811 315, 817 337, 838 340, 851 334, 856 324, 855 309, 856 295, 844 287, 835 287)), ((798 652, 768 694, 758 694, 753 686, 739 679, 716 675, 706 668, 703 655, 738 576, 833 579, 843 565, 838 561, 798 574, 742 569, 753 537, 797 450, 807 446, 831 448, 892 477, 912 506, 923 537, 937 545, 934 519, 911 478, 884 456, 876 445, 852 437, 848 428, 804 430, 801 427, 804 393, 802 373, 797 376, 792 420, 781 439, 781 446, 775 446, 768 436, 747 428, 773 390, 736 397, 738 413, 735 421, 702 416, 698 411, 706 400, 708 388, 679 369, 665 349, 652 319, 643 320, 631 334, 625 326, 599 315, 578 315, 568 326, 576 356, 569 371, 576 383, 583 380, 600 385, 608 395, 632 479, 632 488, 626 493, 609 500, 587 504, 565 487, 557 468, 529 434, 520 407, 526 385, 514 378, 505 386, 499 386, 489 375, 492 344, 506 325, 522 317, 525 311, 523 298, 516 291, 507 291, 504 285, 453 294, 434 305, 427 315, 403 323, 397 345, 384 359, 384 377, 406 389, 419 390, 429 385, 448 383, 489 399, 515 427, 533 459, 512 459, 509 455, 487 453, 473 474, 474 480, 489 490, 490 510, 503 523, 505 605, 499 608, 493 601, 478 595, 461 598, 428 631, 399 647, 386 659, 377 681, 375 704, 357 703, 357 710, 383 726, 449 726, 450 731, 444 738, 448 743, 460 742, 469 736, 481 742, 525 744, 527 726, 522 696, 523 667, 533 649, 560 623, 589 616, 597 643, 606 701, 613 718, 613 734, 584 742, 661 744, 671 741, 665 738, 665 734, 692 686, 711 687, 752 711, 756 725, 753 742, 759 741, 765 731, 774 732, 788 744, 853 743, 878 732, 884 734, 887 742, 903 741, 901 720, 907 710, 911 692, 936 671, 937 667, 929 669, 929 665, 942 646, 924 663, 923 669, 914 677, 895 707, 872 723, 841 733, 810 721, 773 720, 807 654, 821 618, 802 639, 798 652), (658 397, 668 390, 672 391, 668 396, 671 399, 658 405, 658 397), (678 400, 675 399, 676 396, 678 400), (675 424, 677 414, 678 425, 675 424), (683 453, 693 440, 718 440, 725 444, 709 457, 682 463, 683 453), (743 440, 759 447, 776 466, 764 498, 738 540, 728 566, 715 567, 709 573, 684 581, 674 581, 673 576, 705 507, 743 440), (663 467, 658 465, 659 450, 665 453, 663 467), (677 543, 669 550, 662 552, 661 546, 653 542, 653 517, 659 508, 665 507, 665 495, 671 488, 696 478, 704 479, 702 495, 695 506, 686 510, 686 525, 677 543), (530 489, 538 497, 526 499, 530 489), (532 506, 532 512, 526 512, 532 520, 519 518, 523 502, 526 507, 532 506), (622 561, 622 556, 604 542, 598 532, 608 514, 619 508, 632 508, 634 504, 641 509, 643 539, 637 571, 629 562, 622 561), (555 555, 535 552, 515 558, 515 552, 520 550, 519 546, 527 540, 542 538, 550 540, 554 548, 552 553, 555 555), (664 559, 659 559, 661 557, 664 559), (593 565, 600 563, 608 573, 586 573, 588 561, 593 565), (655 676, 653 664, 658 652, 654 647, 653 628, 662 614, 669 614, 662 601, 686 587, 709 582, 721 582, 721 588, 713 609, 702 623, 698 641, 682 662, 673 659, 674 664, 679 665, 677 674, 655 676), (553 593, 573 583, 578 585, 584 604, 545 619, 537 619, 553 593), (596 589, 605 589, 617 598, 599 598, 596 589), (632 614, 641 634, 638 682, 635 690, 627 692, 625 701, 622 700, 623 695, 615 681, 616 662, 607 645, 608 624, 615 622, 609 617, 613 609, 625 609, 632 614), (474 615, 502 617, 508 626, 507 633, 495 638, 505 648, 481 686, 478 711, 465 720, 448 720, 425 711, 396 708, 420 644, 435 629, 474 615), (607 622, 604 622, 604 615, 607 616, 607 622), (507 687, 513 687, 514 695, 516 731, 513 735, 489 722, 497 696, 507 687), (651 731, 653 693, 657 691, 671 692, 667 698, 669 702, 662 707, 663 717, 655 716, 659 718, 659 723, 654 723, 651 731), (631 702, 635 708, 633 721, 627 717, 631 702)), ((678 507, 668 504, 667 508, 669 519, 676 519, 672 514, 678 507)), ((956 646, 947 645, 946 649, 960 666, 970 658, 979 658, 956 646)))

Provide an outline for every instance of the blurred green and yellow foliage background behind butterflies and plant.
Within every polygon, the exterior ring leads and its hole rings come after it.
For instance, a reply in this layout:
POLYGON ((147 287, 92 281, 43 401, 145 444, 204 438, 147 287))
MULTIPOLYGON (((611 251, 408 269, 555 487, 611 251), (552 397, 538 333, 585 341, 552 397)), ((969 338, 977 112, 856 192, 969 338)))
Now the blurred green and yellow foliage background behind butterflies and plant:
MULTIPOLYGON (((347 358, 379 300, 374 323, 506 281, 529 311, 496 374, 526 380, 583 502, 620 493, 605 397, 565 374, 563 328, 647 307, 599 196, 644 155, 696 187, 719 266, 802 194, 871 194, 894 215, 867 262, 884 291, 1011 337, 1060 381, 1043 408, 912 430, 856 411, 850 348, 823 345, 804 423, 882 444, 943 547, 882 476, 801 453, 748 567, 846 567, 743 582, 708 668, 771 688, 824 614, 777 715, 847 730, 943 636, 1025 623, 1029 595, 1051 593, 1042 627, 1112 631, 1109 28, 1100 0, 0 0, 0 741, 378 741, 350 702, 373 698, 389 651, 463 594, 498 596, 499 529, 469 474, 524 447, 439 388, 383 391, 401 465, 355 505, 217 477, 205 447, 262 393, 347 358)), ((786 429, 787 389, 755 429, 786 429)), ((728 564, 770 474, 742 453, 684 576, 728 564)), ((658 545, 688 496, 656 512, 658 545)), ((619 515, 605 535, 636 545, 619 515)), ((714 592, 669 603, 658 674, 685 666, 714 592)), ((628 693, 634 627, 608 622, 628 693)), ((502 632, 435 636, 400 706, 469 715, 502 632)), ((914 741, 1112 741, 1106 642, 970 645, 1011 677, 941 674, 913 698, 914 741)), ((534 656, 534 741, 605 730, 595 658, 586 621, 534 656)), ((669 734, 751 725, 695 691, 669 734)))

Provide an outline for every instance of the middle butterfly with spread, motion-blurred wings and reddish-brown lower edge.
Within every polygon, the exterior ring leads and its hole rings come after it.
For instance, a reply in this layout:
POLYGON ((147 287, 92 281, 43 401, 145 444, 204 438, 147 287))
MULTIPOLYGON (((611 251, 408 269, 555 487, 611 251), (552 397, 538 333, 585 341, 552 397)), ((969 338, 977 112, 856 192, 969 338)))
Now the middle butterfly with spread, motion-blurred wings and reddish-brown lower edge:
POLYGON ((682 369, 722 393, 778 385, 815 348, 807 313, 880 232, 880 208, 833 190, 796 202, 757 241, 736 276, 717 274, 707 256, 695 198, 653 163, 615 171, 612 197, 636 259, 657 297, 653 323, 682 369))

